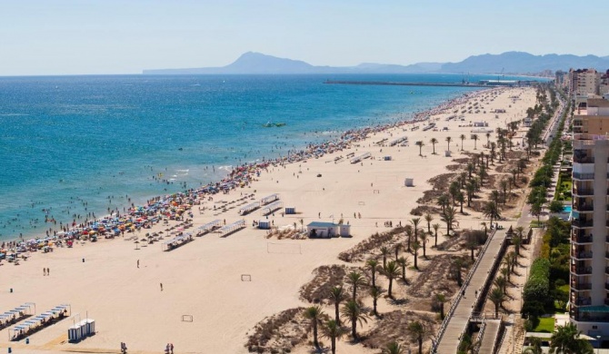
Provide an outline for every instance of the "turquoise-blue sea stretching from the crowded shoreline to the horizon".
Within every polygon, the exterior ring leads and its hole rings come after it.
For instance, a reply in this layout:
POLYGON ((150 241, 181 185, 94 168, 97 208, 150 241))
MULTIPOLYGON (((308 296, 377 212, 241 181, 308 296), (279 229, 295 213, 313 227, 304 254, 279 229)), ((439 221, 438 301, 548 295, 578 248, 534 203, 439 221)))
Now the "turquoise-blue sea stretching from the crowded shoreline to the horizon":
POLYGON ((0 77, 0 241, 45 236, 479 90, 327 79, 460 83, 464 75, 0 77))

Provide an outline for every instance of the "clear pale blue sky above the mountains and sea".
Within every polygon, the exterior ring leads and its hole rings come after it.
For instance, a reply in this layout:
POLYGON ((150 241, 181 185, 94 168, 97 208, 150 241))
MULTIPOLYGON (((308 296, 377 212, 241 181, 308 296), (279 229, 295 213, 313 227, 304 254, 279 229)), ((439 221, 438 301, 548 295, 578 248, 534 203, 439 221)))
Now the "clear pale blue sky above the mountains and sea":
POLYGON ((248 51, 315 65, 472 54, 609 55, 606 0, 0 0, 0 75, 223 66, 248 51))

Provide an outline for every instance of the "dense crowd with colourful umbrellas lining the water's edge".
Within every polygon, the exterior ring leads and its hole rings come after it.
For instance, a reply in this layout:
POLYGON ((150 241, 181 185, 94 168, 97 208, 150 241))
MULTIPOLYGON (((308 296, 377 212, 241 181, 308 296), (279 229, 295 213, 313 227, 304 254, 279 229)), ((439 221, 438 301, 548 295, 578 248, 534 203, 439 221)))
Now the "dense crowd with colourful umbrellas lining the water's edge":
MULTIPOLYGON (((99 219, 95 219, 95 214, 91 213, 94 216, 91 220, 87 217, 82 222, 77 222, 76 218, 70 224, 60 222, 58 230, 49 228, 46 231, 45 237, 24 240, 23 236, 21 236, 15 241, 5 241, 2 243, 2 247, 0 247, 0 262, 7 257, 16 259, 20 253, 42 251, 45 248, 48 249, 56 246, 71 247, 74 241, 96 241, 98 237, 111 239, 121 235, 125 236, 125 232, 130 233, 149 229, 152 225, 162 220, 183 220, 185 213, 192 217, 192 211, 190 210, 194 205, 200 205, 216 193, 228 193, 236 189, 245 188, 254 182, 262 172, 269 172, 270 168, 285 167, 289 163, 305 162, 307 159, 317 159, 327 153, 341 152, 374 133, 384 132, 387 129, 402 127, 404 125, 422 123, 432 115, 446 113, 455 106, 472 99, 477 94, 480 94, 480 92, 464 93, 462 96, 442 103, 430 110, 414 113, 410 117, 411 119, 348 130, 334 140, 323 143, 310 143, 300 150, 289 150, 285 156, 271 160, 263 159, 261 162, 243 163, 233 168, 219 182, 210 182, 199 188, 188 189, 185 192, 177 192, 162 197, 157 196, 148 200, 142 206, 136 206, 134 203, 131 203, 130 207, 128 209, 125 208, 123 213, 118 211, 118 209, 116 211, 109 210, 109 215, 99 219)), ((125 200, 131 202, 128 196, 125 197, 125 200)), ((45 218, 45 221, 48 221, 48 219, 45 218)), ((57 222, 55 220, 52 221, 54 221, 52 223, 56 226, 57 222)))

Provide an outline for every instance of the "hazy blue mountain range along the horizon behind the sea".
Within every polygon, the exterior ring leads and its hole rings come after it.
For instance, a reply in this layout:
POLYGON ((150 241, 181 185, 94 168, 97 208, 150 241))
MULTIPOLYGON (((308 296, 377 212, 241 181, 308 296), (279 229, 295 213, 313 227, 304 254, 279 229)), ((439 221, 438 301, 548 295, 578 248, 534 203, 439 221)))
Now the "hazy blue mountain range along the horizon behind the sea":
POLYGON ((534 55, 524 52, 472 55, 459 63, 417 63, 410 65, 364 63, 356 66, 314 66, 300 60, 278 58, 255 52, 242 54, 234 63, 221 67, 153 69, 143 74, 536 74, 569 68, 609 69, 609 56, 573 54, 534 55))

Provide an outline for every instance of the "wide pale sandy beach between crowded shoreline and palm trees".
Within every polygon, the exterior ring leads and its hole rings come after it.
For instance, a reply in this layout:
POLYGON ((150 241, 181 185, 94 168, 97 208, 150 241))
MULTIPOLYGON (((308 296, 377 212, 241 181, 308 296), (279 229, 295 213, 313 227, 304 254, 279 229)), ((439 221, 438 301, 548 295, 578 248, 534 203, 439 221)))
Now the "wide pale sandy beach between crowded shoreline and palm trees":
MULTIPOLYGON (((470 93, 466 102, 438 109, 427 121, 370 134, 348 149, 317 159, 269 166, 268 172, 262 172, 251 185, 215 194, 213 201, 193 207, 193 229, 216 219, 227 224, 245 220, 244 230, 225 237, 211 232, 174 251, 163 251, 161 243, 169 238, 153 244, 135 244, 125 241, 131 236, 125 233, 125 237, 100 238, 95 243, 79 241, 70 249, 35 252, 18 266, 3 261, 0 312, 24 302, 35 302, 37 313, 69 304, 72 317, 29 336, 29 344, 25 344, 25 339, 11 341, 8 329, 2 329, 0 348, 10 347, 15 353, 108 353, 119 352, 120 343, 125 342, 129 353, 161 353, 166 343, 175 345, 175 353, 245 353, 247 336, 256 323, 282 310, 310 306, 300 298, 299 290, 312 280, 314 269, 332 264, 362 266, 363 262, 345 263, 337 256, 375 232, 389 231, 385 221, 392 221, 393 226, 409 222, 414 217, 410 211, 417 206, 416 201, 433 188, 427 181, 449 172, 446 166, 457 163, 454 159, 467 157, 464 152, 487 153, 483 147, 486 134, 477 133, 478 141, 474 142, 470 138, 474 129, 492 132, 493 141, 496 128, 522 120, 526 108, 534 103, 534 88, 470 93), (475 110, 480 112, 474 113, 475 110), (499 110, 504 113, 495 113, 499 110), (430 122, 435 127, 424 130, 430 122), (487 126, 474 127, 474 122, 487 126), (414 126, 418 128, 413 130, 414 126), (459 138, 462 134, 466 136, 463 142, 459 138), (408 138, 407 145, 389 146, 389 142, 402 137, 408 138), (448 150, 447 137, 452 139, 451 156, 444 154, 448 150), (438 141, 434 147, 432 138, 438 141), (423 156, 419 156, 417 141, 424 142, 423 156), (432 153, 433 149, 437 154, 432 153), (365 152, 370 152, 371 157, 362 162, 350 163, 347 158, 350 153, 358 156, 365 152), (385 156, 391 159, 385 161, 385 156), (414 179, 413 187, 404 186, 406 178, 414 179), (295 208, 296 214, 283 215, 280 210, 268 217, 279 229, 288 230, 295 224, 296 229, 301 229, 301 221, 305 226, 311 221, 343 219, 351 226, 352 237, 277 240, 267 238, 267 231, 253 227, 254 221, 266 220, 260 210, 243 217, 238 214, 238 207, 220 212, 225 202, 234 203, 251 193, 254 197, 247 202, 278 193, 284 207, 295 208), (204 206, 206 210, 200 213, 198 207, 204 206), (44 275, 44 268, 50 270, 48 276, 44 275), (251 281, 243 281, 243 275, 250 276, 251 281), (95 336, 68 343, 67 328, 76 321, 75 317, 95 319, 95 336)), ((514 137, 514 150, 522 150, 519 145, 525 131, 521 126, 514 137)), ((457 215, 456 230, 482 228, 481 213, 468 213, 457 215)), ((514 217, 510 211, 503 216, 508 220, 514 217)), ((443 225, 438 240, 442 242, 444 222, 437 215, 434 222, 443 225)), ((157 223, 150 230, 135 231, 135 235, 141 239, 146 232, 165 231, 177 223, 157 223)), ((428 266, 439 252, 428 246, 430 259, 419 258, 419 268, 428 266)), ((412 284, 417 272, 409 270, 408 277, 412 284)), ((386 280, 380 281, 384 284, 386 280)), ((394 286, 394 291, 408 298, 407 286, 394 286)), ((371 300, 366 298, 364 302, 369 304, 371 300)), ((331 306, 324 306, 324 310, 334 313, 331 306)), ((393 310, 420 310, 434 315, 426 302, 411 300, 402 305, 379 300, 379 312, 393 310)), ((374 324, 375 320, 368 320, 359 330, 365 333, 374 329, 374 324)), ((305 344, 304 341, 292 352, 309 352, 312 347, 305 344)), ((337 352, 372 353, 378 349, 350 344, 344 337, 338 342, 337 352)))

